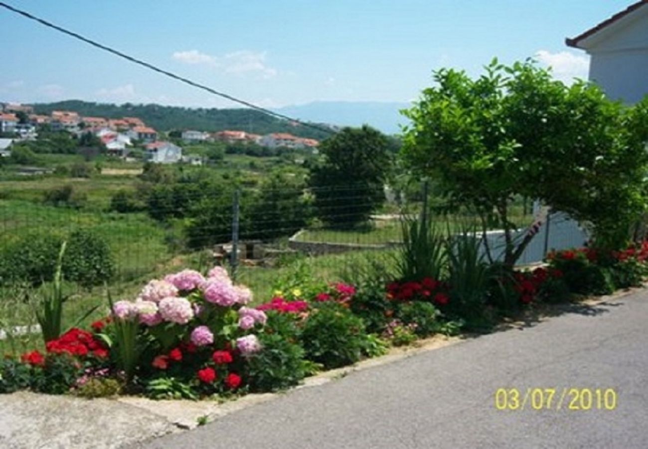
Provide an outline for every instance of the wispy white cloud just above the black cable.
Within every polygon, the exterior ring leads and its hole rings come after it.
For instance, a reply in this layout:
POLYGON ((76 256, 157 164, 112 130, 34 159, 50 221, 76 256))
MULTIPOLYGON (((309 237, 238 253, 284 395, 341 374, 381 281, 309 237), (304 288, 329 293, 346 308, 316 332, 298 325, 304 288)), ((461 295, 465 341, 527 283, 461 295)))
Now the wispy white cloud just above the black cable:
POLYGON ((172 58, 185 64, 205 64, 218 67, 225 73, 257 73, 268 79, 277 75, 277 69, 266 64, 266 52, 239 50, 224 56, 207 55, 198 50, 176 51, 172 58))

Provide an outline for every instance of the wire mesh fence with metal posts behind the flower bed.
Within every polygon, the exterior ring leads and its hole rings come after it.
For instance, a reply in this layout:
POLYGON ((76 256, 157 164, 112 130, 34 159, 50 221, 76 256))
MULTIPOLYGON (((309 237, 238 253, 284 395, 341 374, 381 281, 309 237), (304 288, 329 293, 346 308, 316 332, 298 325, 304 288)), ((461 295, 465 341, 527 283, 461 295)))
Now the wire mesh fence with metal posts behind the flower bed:
MULTIPOLYGON (((220 264, 266 299, 277 279, 304 266, 312 276, 331 279, 362 269, 367 260, 388 260, 402 241, 400 217, 421 213, 426 200, 422 184, 413 189, 417 195, 404 195, 358 185, 204 189, 191 183, 94 185, 90 179, 60 198, 51 194, 61 188, 55 184, 40 193, 36 182, 23 186, 0 197, 3 285, 25 271, 34 282, 46 279, 55 243, 84 230, 110 249, 108 282, 125 294, 165 273, 220 264)), ((530 208, 519 209, 516 220, 531 223, 530 208)), ((474 218, 450 215, 439 221, 459 228, 474 218)), ((68 257, 92 256, 91 250, 68 257)), ((88 263, 85 268, 92 270, 98 261, 88 263)), ((95 277, 89 284, 101 285, 101 276, 95 277)))

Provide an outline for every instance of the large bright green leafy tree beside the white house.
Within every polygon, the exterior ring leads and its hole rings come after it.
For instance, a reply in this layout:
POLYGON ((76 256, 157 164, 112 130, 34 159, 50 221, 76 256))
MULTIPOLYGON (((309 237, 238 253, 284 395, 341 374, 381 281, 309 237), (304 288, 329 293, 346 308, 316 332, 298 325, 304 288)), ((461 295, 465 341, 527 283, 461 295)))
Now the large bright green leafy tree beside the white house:
POLYGON ((646 132, 636 124, 646 123, 645 105, 625 108, 584 81, 566 86, 531 60, 509 67, 494 60, 474 80, 441 69, 434 80, 404 111, 412 124, 402 158, 438 180, 450 204, 478 212, 484 230, 489 221, 503 228, 505 263, 533 238, 514 236, 516 195, 568 212, 601 241, 619 244, 619 228, 643 209, 646 132))

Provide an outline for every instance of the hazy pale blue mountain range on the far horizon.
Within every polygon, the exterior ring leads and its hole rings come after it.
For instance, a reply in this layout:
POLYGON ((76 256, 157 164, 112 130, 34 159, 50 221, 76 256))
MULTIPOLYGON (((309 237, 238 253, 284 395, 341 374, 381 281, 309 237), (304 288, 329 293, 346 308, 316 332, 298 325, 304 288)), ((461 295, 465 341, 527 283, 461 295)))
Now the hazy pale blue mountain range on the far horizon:
POLYGON ((408 122, 399 112, 408 107, 410 107, 409 103, 314 101, 307 104, 285 106, 276 109, 276 111, 290 115, 290 117, 317 123, 348 127, 367 124, 386 134, 395 134, 400 131, 399 125, 406 125, 408 122))

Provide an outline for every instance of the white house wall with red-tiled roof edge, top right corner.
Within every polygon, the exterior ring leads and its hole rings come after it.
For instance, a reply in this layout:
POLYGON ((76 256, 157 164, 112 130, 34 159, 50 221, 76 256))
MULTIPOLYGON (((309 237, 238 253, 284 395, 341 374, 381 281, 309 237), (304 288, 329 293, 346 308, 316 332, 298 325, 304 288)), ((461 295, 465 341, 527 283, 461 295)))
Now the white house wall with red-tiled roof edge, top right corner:
POLYGON ((589 79, 608 97, 636 103, 648 94, 648 0, 634 3, 566 43, 591 56, 589 79))

